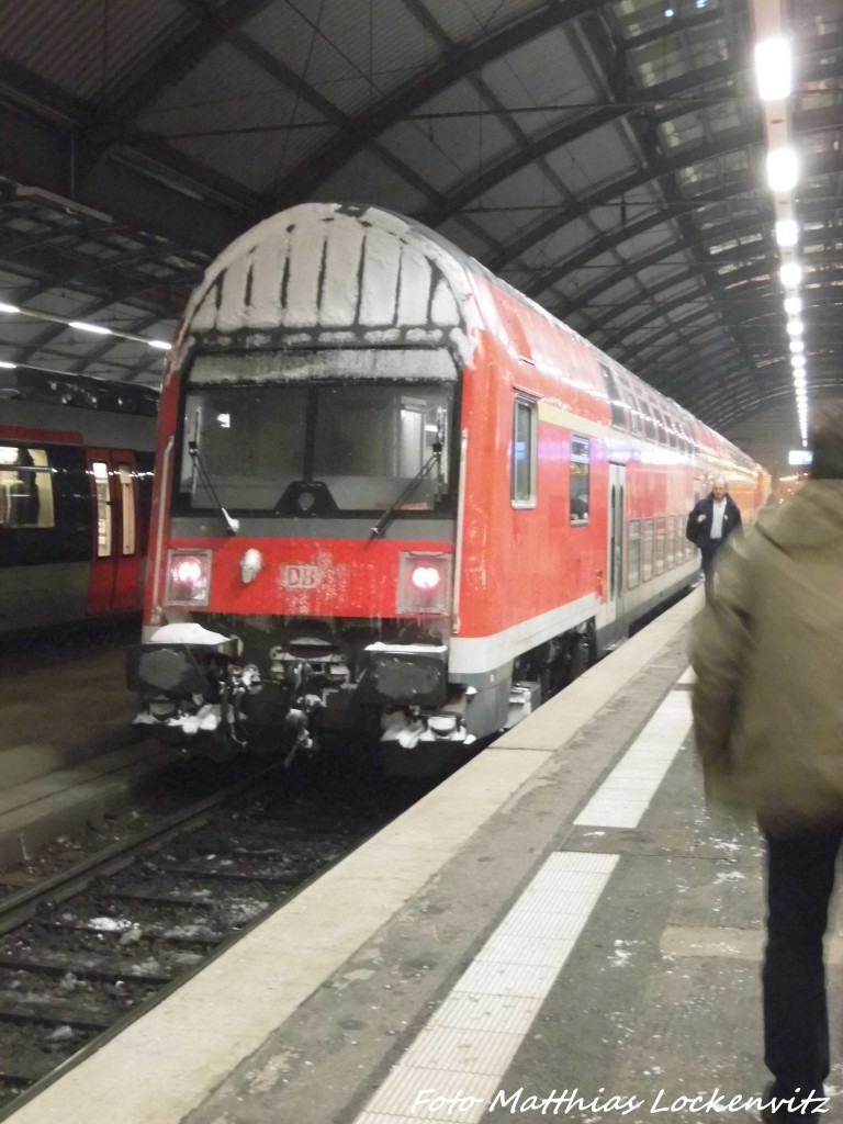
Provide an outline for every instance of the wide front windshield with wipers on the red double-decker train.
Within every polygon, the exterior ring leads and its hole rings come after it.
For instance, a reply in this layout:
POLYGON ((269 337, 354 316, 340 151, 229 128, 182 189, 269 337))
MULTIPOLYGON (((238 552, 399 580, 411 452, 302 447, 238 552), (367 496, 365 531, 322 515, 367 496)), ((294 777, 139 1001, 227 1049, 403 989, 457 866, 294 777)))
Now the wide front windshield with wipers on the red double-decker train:
POLYGON ((456 384, 444 350, 199 355, 180 507, 216 507, 216 492, 241 511, 447 510, 456 384))

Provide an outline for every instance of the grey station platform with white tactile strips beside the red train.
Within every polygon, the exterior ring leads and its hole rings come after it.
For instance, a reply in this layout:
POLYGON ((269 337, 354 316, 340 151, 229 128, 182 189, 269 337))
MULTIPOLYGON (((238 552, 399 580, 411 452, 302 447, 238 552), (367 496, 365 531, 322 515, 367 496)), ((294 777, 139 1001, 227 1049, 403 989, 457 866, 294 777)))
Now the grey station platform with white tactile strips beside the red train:
MULTIPOLYGON (((701 590, 13 1124, 758 1120, 761 846, 704 806, 701 590)), ((843 944, 828 942, 840 1109, 843 944)))

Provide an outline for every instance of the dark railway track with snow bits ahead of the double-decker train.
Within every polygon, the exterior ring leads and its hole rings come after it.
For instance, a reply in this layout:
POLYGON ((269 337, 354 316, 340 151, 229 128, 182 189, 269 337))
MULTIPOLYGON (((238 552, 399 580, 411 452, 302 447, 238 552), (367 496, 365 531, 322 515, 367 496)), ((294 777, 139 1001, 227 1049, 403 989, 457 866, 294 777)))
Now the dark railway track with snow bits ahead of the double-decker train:
POLYGON ((424 790, 347 781, 253 777, 0 898, 0 1120, 424 790))

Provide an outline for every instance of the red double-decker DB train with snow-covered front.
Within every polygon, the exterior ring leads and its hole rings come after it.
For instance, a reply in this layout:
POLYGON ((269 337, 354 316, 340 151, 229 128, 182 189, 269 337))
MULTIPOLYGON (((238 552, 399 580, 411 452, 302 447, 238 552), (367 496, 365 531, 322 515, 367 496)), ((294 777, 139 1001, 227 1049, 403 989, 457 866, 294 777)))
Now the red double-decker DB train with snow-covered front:
POLYGON ((138 719, 424 769, 688 587, 723 437, 434 232, 308 203, 209 268, 164 377, 138 719))

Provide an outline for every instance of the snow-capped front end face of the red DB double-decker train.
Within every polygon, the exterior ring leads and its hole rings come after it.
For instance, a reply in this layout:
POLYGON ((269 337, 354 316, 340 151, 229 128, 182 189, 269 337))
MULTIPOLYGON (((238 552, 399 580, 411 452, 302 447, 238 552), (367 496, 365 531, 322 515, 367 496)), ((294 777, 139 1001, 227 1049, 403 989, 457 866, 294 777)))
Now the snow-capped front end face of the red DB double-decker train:
POLYGON ((474 307, 433 237, 363 207, 210 266, 164 380, 139 723, 288 759, 326 731, 472 740, 447 655, 474 307))

